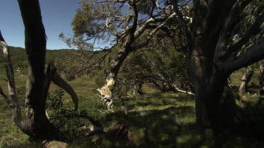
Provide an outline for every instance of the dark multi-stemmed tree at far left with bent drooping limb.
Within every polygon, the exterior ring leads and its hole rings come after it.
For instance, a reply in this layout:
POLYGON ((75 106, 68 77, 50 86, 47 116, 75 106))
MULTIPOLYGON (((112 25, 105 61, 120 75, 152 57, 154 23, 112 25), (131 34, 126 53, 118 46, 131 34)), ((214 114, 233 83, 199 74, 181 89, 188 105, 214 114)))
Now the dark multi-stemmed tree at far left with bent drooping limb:
POLYGON ((56 67, 45 64, 46 34, 42 23, 42 15, 37 0, 18 0, 20 12, 25 26, 25 49, 27 52, 27 85, 25 93, 25 119, 20 111, 18 97, 15 90, 13 66, 11 64, 8 45, 0 32, 8 95, 0 87, 0 94, 7 100, 13 114, 15 124, 27 135, 35 140, 65 140, 46 116, 46 98, 51 81, 65 89, 78 107, 78 98, 73 88, 56 72, 56 67))

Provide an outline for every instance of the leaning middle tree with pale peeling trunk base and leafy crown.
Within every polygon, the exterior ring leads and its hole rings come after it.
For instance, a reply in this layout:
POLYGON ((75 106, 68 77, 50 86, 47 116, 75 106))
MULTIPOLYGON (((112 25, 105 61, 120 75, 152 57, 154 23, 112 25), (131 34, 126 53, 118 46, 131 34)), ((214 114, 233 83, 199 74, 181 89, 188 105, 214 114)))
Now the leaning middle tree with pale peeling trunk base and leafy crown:
MULTIPOLYGON (((149 44, 157 32, 173 34, 172 18, 175 13, 168 1, 152 0, 81 0, 81 9, 73 19, 73 38, 61 34, 61 38, 81 49, 91 48, 89 40, 96 43, 111 43, 111 51, 120 46, 120 51, 110 62, 105 85, 98 89, 102 100, 113 107, 113 88, 118 72, 127 55, 149 44)), ((91 42, 90 42, 91 43, 91 42)))

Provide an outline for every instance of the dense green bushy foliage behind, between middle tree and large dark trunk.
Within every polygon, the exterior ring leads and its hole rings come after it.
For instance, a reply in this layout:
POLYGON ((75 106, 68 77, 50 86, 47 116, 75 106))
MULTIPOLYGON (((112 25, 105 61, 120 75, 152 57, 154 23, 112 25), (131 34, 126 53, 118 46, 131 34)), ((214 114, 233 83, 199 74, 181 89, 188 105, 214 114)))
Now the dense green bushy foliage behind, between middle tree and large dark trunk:
POLYGON ((147 83, 161 91, 176 90, 175 87, 191 91, 187 58, 172 46, 169 39, 161 39, 163 45, 155 42, 144 50, 129 55, 120 70, 119 78, 126 90, 147 83))

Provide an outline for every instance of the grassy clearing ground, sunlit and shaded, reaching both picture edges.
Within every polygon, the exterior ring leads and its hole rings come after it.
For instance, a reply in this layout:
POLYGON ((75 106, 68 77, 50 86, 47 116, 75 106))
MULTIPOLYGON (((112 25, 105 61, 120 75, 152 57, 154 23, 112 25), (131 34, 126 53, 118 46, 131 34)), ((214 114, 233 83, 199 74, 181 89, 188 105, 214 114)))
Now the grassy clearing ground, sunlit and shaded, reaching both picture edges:
MULTIPOLYGON (((4 81, 3 68, 0 69, 0 73, 0 83, 4 90, 7 90, 4 85, 6 81, 4 81)), ((232 75, 235 85, 240 84, 240 79, 241 72, 232 75)), ((26 77, 16 72, 15 81, 18 88, 22 88, 25 86, 26 77)), ((75 133, 81 126, 91 124, 89 116, 106 128, 123 123, 130 133, 130 147, 210 147, 212 145, 210 141, 203 142, 199 135, 199 129, 195 124, 194 97, 191 95, 161 93, 144 86, 144 95, 123 98, 129 109, 126 116, 120 107, 120 100, 115 102, 115 112, 104 111, 104 106, 96 95, 95 89, 98 86, 89 76, 82 76, 69 83, 80 98, 80 112, 73 112, 70 95, 64 93, 63 109, 66 110, 61 111, 63 116, 58 115, 59 119, 54 120, 54 124, 60 127, 61 131, 68 132, 68 135, 75 133)), ((51 92, 57 89, 57 86, 51 84, 51 92)), ((23 99, 23 94, 21 95, 23 99)), ((22 99, 20 102, 23 102, 22 99)), ((239 120, 244 120, 244 125, 239 125, 238 129, 226 131, 217 137, 222 147, 263 147, 264 144, 261 142, 263 140, 259 139, 264 131, 262 100, 262 97, 250 95, 246 100, 247 103, 237 102, 241 112, 239 120), (251 130, 259 130, 259 132, 253 133, 251 130)), ((92 137, 79 135, 71 137, 68 147, 127 147, 127 142, 124 137, 117 134, 92 137)), ((0 147, 39 147, 39 144, 32 142, 15 126, 3 98, 0 99, 0 147)))

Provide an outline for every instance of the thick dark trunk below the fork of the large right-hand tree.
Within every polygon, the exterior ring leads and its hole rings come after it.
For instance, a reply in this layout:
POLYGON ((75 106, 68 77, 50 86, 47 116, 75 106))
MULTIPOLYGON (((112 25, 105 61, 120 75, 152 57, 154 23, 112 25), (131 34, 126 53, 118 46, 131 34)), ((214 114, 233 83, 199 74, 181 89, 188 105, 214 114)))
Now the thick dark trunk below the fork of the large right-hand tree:
POLYGON ((196 95, 196 122, 203 130, 209 128, 217 133, 232 124, 234 96, 227 84, 228 76, 215 67, 210 68, 204 55, 197 55, 193 53, 189 61, 196 95))

